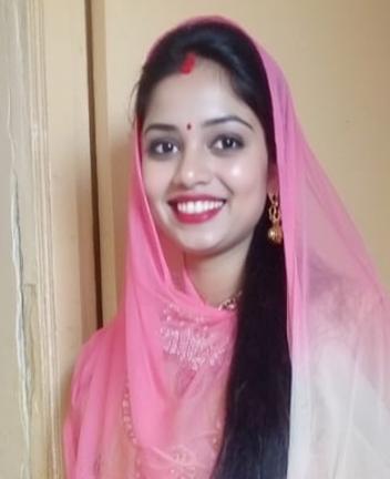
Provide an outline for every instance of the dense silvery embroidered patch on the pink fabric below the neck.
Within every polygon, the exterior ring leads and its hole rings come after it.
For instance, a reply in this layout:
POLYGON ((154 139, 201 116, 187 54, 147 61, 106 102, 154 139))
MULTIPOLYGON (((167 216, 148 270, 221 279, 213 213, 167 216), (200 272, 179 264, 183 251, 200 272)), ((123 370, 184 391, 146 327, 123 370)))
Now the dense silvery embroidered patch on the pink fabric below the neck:
POLYGON ((202 316, 185 315, 173 304, 163 312, 161 336, 164 353, 191 371, 218 367, 229 348, 227 336, 213 333, 202 316))

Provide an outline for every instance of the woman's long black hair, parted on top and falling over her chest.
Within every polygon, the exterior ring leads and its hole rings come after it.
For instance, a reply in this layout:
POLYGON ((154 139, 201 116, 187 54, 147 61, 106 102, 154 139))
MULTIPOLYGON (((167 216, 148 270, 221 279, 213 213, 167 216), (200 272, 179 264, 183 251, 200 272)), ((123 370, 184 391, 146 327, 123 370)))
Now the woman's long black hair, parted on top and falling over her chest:
MULTIPOLYGON (((193 52, 222 65, 235 93, 265 132, 276 161, 267 74, 252 40, 224 21, 207 19, 168 32, 147 59, 137 85, 142 124, 151 94, 193 52)), ((286 328, 286 271, 281 246, 267 240, 267 206, 247 254, 235 347, 225 401, 225 425, 213 479, 283 479, 287 475, 291 364, 286 328)))

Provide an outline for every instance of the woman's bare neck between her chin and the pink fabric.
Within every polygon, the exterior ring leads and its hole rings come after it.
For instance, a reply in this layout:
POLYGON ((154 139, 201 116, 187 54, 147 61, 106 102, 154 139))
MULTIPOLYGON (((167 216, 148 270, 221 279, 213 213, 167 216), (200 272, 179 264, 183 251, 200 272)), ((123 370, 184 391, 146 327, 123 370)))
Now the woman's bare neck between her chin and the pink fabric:
POLYGON ((206 303, 218 306, 240 291, 249 243, 248 241, 217 255, 185 256, 188 276, 206 303))

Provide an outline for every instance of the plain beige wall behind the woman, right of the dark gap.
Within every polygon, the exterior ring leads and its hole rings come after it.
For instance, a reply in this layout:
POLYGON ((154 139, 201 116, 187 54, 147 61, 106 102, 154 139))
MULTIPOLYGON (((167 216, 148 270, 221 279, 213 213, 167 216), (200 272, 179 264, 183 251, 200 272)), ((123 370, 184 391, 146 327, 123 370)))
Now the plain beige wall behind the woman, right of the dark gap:
POLYGON ((115 310, 122 283, 131 91, 156 37, 194 14, 218 13, 237 20, 278 60, 309 142, 390 287, 387 0, 98 0, 94 6, 106 320, 115 310), (112 276, 114 258, 116 277, 112 276))

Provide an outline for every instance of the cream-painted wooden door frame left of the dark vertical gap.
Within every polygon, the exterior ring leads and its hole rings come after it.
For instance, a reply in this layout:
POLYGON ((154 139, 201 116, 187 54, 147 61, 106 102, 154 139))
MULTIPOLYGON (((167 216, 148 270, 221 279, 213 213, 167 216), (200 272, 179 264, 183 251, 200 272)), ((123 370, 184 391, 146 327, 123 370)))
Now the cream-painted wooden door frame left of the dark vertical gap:
POLYGON ((18 356, 19 404, 8 406, 24 438, 14 463, 23 479, 60 479, 71 371, 96 327, 85 6, 10 1, 1 13, 8 133, 17 149, 10 161, 17 317, 4 318, 16 324, 18 356))

